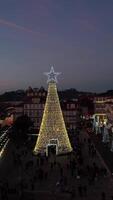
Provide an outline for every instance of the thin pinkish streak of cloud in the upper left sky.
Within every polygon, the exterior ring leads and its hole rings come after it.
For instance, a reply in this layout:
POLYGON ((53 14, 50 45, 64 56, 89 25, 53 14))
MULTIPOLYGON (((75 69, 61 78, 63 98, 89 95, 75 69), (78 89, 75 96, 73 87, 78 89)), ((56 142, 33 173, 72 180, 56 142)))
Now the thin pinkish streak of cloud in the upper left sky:
POLYGON ((39 32, 36 32, 36 31, 33 31, 29 28, 26 28, 24 26, 20 26, 16 23, 13 23, 11 21, 7 21, 7 20, 4 20, 4 19, 0 19, 0 24, 1 25, 4 25, 4 26, 7 26, 7 27, 10 27, 10 28, 13 28, 13 29, 17 29, 17 30, 20 30, 20 31, 23 31, 23 32, 28 32, 28 33, 32 33, 32 34, 39 34, 39 32))

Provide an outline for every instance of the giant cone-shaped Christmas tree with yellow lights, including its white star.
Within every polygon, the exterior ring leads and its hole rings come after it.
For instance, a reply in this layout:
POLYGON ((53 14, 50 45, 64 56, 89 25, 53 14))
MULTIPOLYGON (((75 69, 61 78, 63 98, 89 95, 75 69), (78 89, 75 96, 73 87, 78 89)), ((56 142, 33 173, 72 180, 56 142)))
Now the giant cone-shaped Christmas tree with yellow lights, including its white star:
POLYGON ((68 138, 56 87, 56 77, 60 73, 54 72, 54 68, 51 67, 50 72, 45 74, 48 76, 48 94, 34 153, 46 153, 48 155, 50 147, 55 147, 57 155, 68 153, 72 151, 72 147, 68 138))

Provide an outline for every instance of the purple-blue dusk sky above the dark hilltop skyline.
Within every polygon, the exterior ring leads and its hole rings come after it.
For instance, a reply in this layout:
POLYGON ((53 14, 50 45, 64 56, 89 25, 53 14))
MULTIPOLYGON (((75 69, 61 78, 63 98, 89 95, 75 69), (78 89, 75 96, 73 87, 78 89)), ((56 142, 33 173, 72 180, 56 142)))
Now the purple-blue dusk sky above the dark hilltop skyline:
POLYGON ((0 0, 0 93, 47 88, 113 89, 113 0, 0 0))

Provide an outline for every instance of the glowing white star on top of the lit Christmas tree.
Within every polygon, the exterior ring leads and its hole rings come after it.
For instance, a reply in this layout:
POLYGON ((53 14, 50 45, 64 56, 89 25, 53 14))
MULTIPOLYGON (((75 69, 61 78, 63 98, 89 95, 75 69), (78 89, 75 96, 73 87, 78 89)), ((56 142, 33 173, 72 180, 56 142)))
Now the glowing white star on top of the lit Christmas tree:
POLYGON ((49 83, 49 82, 58 82, 57 81, 57 76, 59 75, 59 74, 61 74, 60 72, 55 72, 54 71, 54 68, 53 68, 53 66, 51 67, 51 70, 50 70, 50 72, 45 72, 44 73, 46 76, 48 76, 48 80, 47 80, 47 83, 49 83))

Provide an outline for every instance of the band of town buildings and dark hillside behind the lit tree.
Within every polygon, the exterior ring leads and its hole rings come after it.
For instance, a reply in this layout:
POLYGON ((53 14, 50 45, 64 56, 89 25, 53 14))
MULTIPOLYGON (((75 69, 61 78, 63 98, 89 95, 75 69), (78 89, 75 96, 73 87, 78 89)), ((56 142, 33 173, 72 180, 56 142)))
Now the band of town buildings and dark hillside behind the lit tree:
MULTIPOLYGON (((76 89, 59 91, 59 99, 68 129, 75 129, 78 110, 84 119, 95 118, 98 123, 113 121, 113 90, 105 93, 79 92, 76 89)), ((26 91, 17 90, 0 95, 0 120, 9 124, 19 116, 27 115, 39 129, 47 91, 29 87, 26 91)), ((4 124, 4 123, 3 123, 4 124)))

